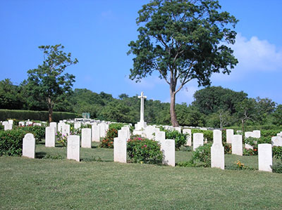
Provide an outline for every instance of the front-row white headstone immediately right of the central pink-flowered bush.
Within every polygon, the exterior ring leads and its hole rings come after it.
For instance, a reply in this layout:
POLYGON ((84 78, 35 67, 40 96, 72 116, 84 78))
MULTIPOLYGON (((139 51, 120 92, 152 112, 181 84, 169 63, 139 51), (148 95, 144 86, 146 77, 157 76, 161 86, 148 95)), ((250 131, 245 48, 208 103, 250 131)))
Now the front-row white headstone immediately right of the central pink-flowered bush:
POLYGON ((176 166, 176 145, 175 140, 166 139, 161 142, 161 151, 163 152, 163 164, 176 166))

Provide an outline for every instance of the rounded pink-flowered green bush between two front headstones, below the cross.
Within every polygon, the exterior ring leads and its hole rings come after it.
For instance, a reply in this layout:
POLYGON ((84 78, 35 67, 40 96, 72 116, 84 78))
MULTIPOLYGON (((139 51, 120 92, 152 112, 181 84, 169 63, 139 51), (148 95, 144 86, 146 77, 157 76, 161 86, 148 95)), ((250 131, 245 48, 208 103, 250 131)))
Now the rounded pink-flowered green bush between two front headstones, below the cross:
POLYGON ((147 138, 129 139, 127 151, 129 159, 135 163, 156 164, 161 163, 163 159, 161 145, 157 141, 147 138))

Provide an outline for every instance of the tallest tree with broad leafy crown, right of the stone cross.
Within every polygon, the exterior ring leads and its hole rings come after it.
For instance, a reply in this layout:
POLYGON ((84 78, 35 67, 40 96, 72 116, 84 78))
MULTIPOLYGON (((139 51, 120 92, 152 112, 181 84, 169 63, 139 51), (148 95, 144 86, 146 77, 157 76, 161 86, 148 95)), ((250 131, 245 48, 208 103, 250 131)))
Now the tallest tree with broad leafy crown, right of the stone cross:
POLYGON ((192 79, 207 86, 212 73, 229 74, 238 63, 226 45, 235 43, 230 26, 238 20, 213 0, 152 0, 138 13, 138 39, 128 51, 135 55, 130 79, 159 72, 170 87, 171 124, 178 126, 176 93, 192 79))

